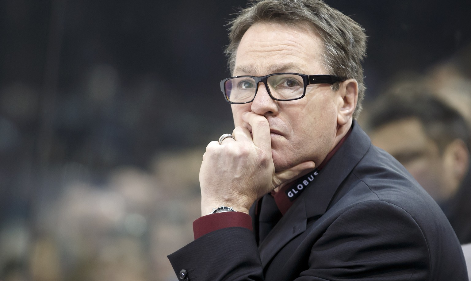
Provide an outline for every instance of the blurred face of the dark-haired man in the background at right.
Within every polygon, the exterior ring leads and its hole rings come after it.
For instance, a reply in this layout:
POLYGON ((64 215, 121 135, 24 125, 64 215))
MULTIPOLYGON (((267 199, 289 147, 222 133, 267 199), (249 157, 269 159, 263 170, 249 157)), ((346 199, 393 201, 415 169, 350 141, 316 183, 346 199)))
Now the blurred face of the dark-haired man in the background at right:
POLYGON ((437 201, 451 196, 437 144, 417 118, 385 124, 370 133, 372 143, 390 153, 437 201))

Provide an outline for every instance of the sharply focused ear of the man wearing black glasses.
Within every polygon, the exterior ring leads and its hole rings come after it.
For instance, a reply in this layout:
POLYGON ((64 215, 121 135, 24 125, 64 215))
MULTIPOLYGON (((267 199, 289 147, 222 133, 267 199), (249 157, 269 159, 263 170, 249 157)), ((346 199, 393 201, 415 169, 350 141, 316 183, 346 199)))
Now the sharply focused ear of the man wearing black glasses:
POLYGON ((339 125, 347 124, 352 119, 353 111, 357 106, 358 100, 358 83, 355 79, 348 79, 340 83, 338 90, 339 109, 337 114, 337 123, 339 125))

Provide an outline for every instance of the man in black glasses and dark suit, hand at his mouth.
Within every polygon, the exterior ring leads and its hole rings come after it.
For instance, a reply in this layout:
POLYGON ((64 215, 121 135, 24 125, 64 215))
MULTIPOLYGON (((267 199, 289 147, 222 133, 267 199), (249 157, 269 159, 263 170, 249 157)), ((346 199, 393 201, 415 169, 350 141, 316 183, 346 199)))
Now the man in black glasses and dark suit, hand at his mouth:
POLYGON ((320 0, 262 0, 229 39, 235 129, 203 155, 179 279, 466 280, 445 215, 353 120, 363 29, 320 0))

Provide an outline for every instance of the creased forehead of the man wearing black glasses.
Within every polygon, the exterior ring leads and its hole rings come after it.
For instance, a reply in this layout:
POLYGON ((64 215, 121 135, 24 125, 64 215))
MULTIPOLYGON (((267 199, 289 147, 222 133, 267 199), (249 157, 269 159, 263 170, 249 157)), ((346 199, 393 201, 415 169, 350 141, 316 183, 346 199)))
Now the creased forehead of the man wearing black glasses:
POLYGON ((308 25, 255 23, 244 33, 239 43, 234 74, 265 75, 276 72, 321 74, 323 52, 323 41, 308 25))

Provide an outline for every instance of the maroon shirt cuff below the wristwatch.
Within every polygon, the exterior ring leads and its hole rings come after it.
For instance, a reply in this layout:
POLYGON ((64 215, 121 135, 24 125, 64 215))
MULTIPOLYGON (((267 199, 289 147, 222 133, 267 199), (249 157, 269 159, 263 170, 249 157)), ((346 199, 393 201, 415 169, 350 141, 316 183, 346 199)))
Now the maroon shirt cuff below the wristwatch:
POLYGON ((204 215, 193 222, 195 240, 211 231, 227 227, 245 227, 252 231, 252 217, 242 212, 204 215))

